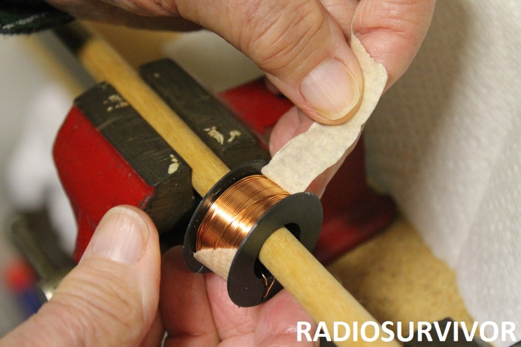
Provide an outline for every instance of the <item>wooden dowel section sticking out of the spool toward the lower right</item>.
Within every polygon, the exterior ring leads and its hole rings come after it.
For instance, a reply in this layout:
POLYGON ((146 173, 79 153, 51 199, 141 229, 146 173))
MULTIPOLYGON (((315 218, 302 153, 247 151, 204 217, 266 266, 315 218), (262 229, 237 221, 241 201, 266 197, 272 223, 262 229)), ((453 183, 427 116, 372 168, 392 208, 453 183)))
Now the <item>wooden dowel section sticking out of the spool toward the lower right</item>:
MULTIPOLYGON (((399 346, 395 341, 383 342, 377 339, 366 342, 357 331, 357 341, 353 341, 353 322, 358 329, 365 322, 375 322, 364 307, 345 290, 340 282, 327 271, 315 257, 286 228, 278 229, 264 243, 259 260, 266 266, 280 284, 290 292, 295 300, 305 308, 315 322, 325 322, 330 336, 333 336, 334 322, 345 322, 351 328, 349 339, 338 341, 338 346, 399 346), (291 254, 291 256, 288 256, 291 254), (281 261, 283 259, 284 261, 281 261)), ((367 337, 374 336, 374 330, 367 329, 367 337)), ((344 335, 339 329, 339 336, 344 335)), ((380 337, 386 337, 379 332, 380 337)))

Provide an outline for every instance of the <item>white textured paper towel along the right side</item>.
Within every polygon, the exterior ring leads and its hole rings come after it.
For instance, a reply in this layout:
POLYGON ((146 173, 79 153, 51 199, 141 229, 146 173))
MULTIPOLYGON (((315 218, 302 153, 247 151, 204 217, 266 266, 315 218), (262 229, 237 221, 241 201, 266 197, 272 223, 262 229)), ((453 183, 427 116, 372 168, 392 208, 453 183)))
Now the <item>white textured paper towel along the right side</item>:
MULTIPOLYGON (((521 2, 439 0, 423 48, 366 126, 369 174, 469 313, 521 338, 521 2)), ((497 342, 509 345, 512 342, 497 342)))

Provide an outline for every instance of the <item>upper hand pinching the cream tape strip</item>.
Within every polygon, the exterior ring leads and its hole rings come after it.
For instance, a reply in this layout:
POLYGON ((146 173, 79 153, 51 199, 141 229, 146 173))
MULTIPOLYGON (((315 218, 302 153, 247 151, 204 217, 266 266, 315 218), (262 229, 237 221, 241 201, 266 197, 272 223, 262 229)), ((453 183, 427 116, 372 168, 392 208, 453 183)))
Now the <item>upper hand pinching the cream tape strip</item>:
MULTIPOLYGON (((295 104, 271 133, 272 154, 313 121, 338 124, 357 110, 363 81, 349 47, 352 31, 387 69, 388 88, 414 58, 435 5, 435 0, 46 1, 79 18, 180 30, 195 23, 224 37, 295 104)), ((342 161, 309 190, 320 195, 342 161)))

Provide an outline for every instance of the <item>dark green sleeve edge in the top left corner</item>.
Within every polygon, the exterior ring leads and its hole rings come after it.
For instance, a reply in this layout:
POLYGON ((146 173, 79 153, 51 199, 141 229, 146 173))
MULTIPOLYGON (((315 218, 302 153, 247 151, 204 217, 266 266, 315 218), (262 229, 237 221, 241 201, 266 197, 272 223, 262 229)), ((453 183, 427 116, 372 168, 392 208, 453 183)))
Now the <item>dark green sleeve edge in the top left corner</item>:
POLYGON ((72 19, 43 1, 0 0, 0 34, 28 34, 72 19))

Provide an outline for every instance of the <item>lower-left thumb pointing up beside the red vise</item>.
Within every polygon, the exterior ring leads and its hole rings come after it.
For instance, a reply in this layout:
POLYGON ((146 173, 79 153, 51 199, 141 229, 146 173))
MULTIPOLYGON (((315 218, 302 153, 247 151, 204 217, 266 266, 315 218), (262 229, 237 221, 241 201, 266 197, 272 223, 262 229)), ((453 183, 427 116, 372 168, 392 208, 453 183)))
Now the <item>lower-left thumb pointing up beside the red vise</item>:
POLYGON ((0 345, 139 345, 156 315, 158 236, 148 216, 116 207, 53 298, 0 345))

